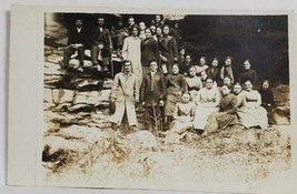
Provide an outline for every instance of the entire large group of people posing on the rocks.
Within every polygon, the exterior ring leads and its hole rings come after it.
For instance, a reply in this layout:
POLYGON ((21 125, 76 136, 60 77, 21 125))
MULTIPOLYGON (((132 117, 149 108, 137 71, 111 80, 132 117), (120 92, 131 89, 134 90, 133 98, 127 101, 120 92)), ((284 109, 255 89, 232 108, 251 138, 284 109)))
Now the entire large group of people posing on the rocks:
POLYGON ((148 27, 142 21, 136 24, 132 17, 125 27, 118 18, 109 30, 105 18, 99 17, 91 35, 83 35, 83 22, 77 20, 65 51, 66 67, 76 50, 83 67, 81 54, 87 45, 98 71, 108 71, 111 52, 122 58, 122 71, 115 75, 110 93, 116 104, 110 116, 112 129, 125 124, 126 130, 133 131, 139 105, 145 108, 146 129, 154 133, 167 127, 176 133, 192 129, 207 136, 237 124, 246 129, 268 126, 267 114, 274 106, 269 81, 265 80, 259 91, 253 89, 258 75, 249 60, 242 62, 239 73, 234 71, 231 57, 224 59, 221 68, 218 58, 201 55, 194 62, 181 45, 178 22, 170 28, 157 14, 148 27))

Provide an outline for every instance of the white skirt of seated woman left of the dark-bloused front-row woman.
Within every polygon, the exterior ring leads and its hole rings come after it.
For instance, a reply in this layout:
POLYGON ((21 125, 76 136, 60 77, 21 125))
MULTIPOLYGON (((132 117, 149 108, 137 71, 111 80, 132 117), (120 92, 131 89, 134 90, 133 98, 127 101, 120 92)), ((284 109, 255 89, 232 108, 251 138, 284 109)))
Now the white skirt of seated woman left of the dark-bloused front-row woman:
POLYGON ((218 108, 205 108, 196 106, 195 118, 194 118, 194 127, 198 130, 204 130, 208 120, 208 116, 212 112, 217 112, 218 108))

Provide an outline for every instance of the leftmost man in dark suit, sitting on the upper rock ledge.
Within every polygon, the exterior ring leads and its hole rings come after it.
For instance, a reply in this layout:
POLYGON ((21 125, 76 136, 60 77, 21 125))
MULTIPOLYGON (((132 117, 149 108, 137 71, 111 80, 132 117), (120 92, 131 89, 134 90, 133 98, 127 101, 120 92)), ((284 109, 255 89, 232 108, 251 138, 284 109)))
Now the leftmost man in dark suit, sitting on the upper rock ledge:
POLYGON ((89 44, 89 34, 88 30, 83 27, 83 21, 81 19, 77 19, 75 24, 75 28, 68 30, 68 47, 63 51, 63 65, 68 67, 70 57, 78 51, 79 64, 82 68, 85 50, 89 44))

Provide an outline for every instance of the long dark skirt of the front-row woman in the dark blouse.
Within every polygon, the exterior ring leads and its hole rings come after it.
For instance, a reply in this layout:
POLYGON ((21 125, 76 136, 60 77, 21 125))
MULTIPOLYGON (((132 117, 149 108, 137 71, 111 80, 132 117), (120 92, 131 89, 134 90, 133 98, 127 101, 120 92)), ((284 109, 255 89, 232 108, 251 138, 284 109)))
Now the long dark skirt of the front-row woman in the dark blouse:
POLYGON ((226 114, 224 112, 212 112, 205 126, 205 135, 214 133, 218 130, 225 130, 227 126, 238 124, 236 114, 226 114))

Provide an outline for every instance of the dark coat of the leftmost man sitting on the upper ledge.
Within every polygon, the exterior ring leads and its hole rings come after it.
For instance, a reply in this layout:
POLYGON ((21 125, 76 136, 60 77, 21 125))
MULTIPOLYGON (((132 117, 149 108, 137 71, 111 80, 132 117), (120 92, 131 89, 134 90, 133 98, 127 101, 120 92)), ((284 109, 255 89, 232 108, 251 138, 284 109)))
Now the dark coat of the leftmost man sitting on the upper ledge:
POLYGON ((85 47, 90 44, 90 34, 88 29, 82 27, 80 32, 78 32, 77 28, 70 28, 68 30, 68 45, 75 43, 81 43, 85 47))

